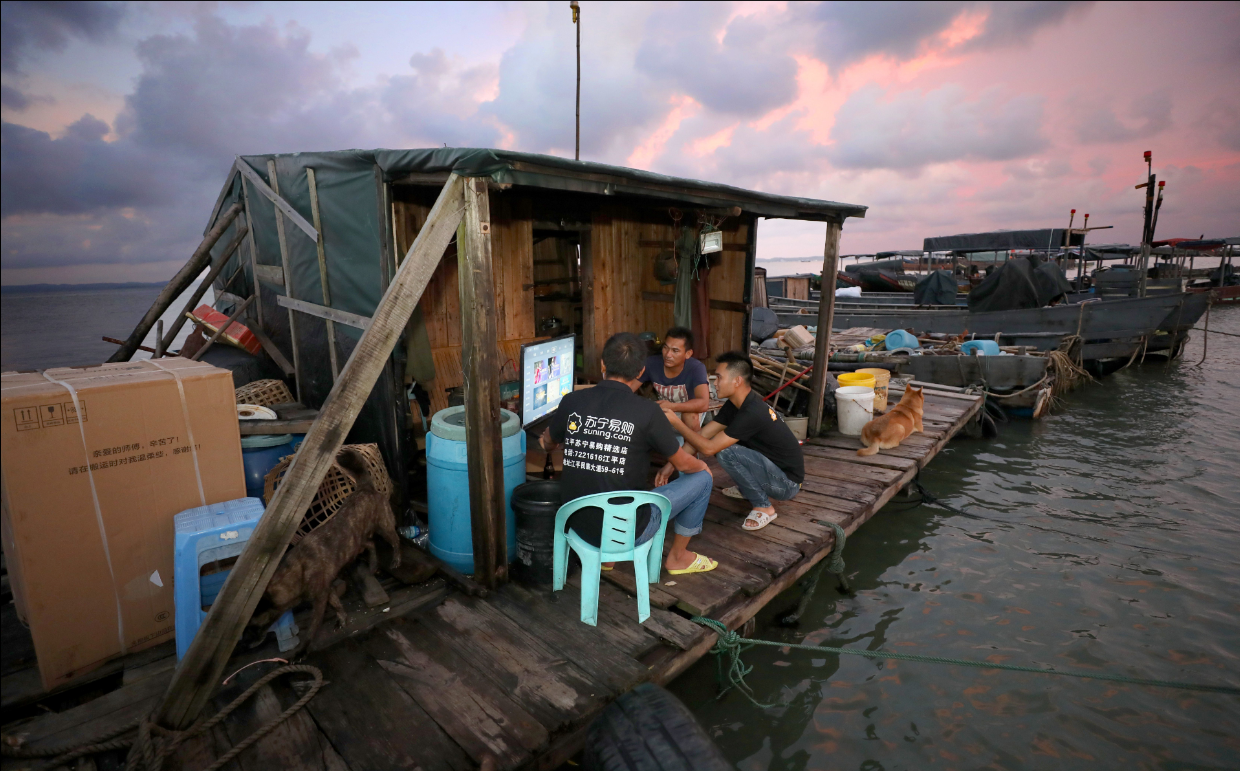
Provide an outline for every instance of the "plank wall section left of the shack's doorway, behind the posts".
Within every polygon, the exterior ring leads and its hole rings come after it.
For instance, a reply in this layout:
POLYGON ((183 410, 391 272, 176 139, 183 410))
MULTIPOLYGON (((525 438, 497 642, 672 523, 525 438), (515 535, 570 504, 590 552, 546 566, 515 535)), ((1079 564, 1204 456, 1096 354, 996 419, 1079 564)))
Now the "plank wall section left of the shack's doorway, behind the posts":
MULTIPOLYGON (((397 253, 403 257, 425 223, 430 203, 397 200, 393 207, 397 253)), ((533 289, 527 288, 533 283, 533 222, 528 198, 491 193, 491 268, 496 289, 500 358, 503 363, 501 377, 505 381, 516 379, 520 376, 516 367, 521 346, 534 338, 533 289)), ((419 302, 430 338, 430 355, 435 362, 435 379, 422 384, 430 394, 432 414, 448 407, 446 389, 464 383, 460 286, 456 276, 454 243, 448 247, 419 302)))

